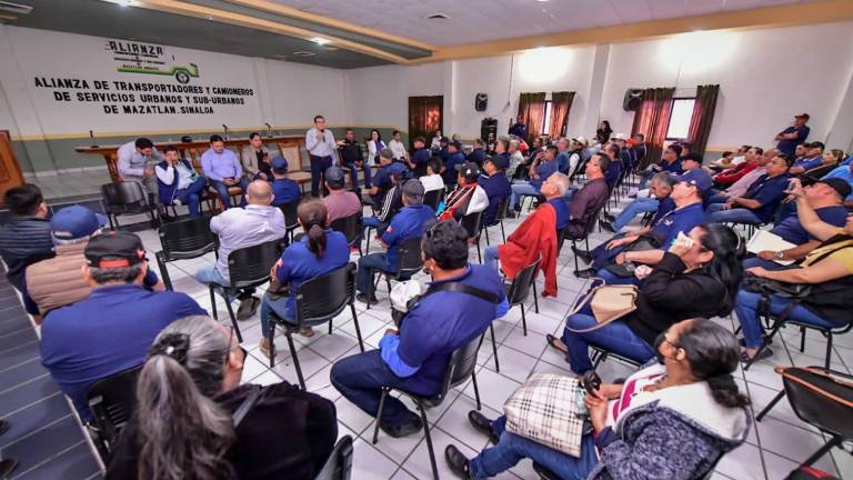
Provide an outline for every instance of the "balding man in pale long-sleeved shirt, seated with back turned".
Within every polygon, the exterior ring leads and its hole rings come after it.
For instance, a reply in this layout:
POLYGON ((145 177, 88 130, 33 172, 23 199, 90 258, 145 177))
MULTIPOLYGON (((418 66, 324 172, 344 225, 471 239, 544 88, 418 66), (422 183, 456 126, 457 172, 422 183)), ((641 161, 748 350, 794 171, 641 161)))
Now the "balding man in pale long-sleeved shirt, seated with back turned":
MULTIPOLYGON (((265 243, 284 238, 287 228, 284 214, 272 207, 274 197, 272 187, 263 180, 249 183, 245 192, 249 204, 241 209, 229 209, 210 219, 210 230, 219 236, 219 259, 215 266, 202 267, 195 272, 195 280, 201 283, 231 284, 228 271, 228 256, 234 250, 265 243)), ((254 297, 253 289, 240 292, 238 320, 253 316, 261 301, 254 297)), ((228 301, 233 301, 229 298, 228 301)))

